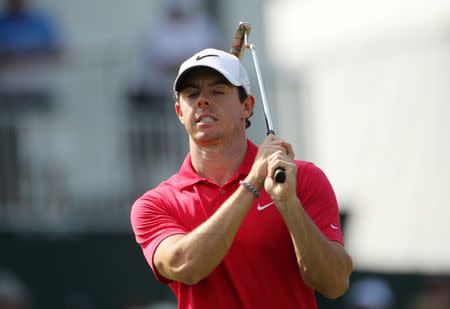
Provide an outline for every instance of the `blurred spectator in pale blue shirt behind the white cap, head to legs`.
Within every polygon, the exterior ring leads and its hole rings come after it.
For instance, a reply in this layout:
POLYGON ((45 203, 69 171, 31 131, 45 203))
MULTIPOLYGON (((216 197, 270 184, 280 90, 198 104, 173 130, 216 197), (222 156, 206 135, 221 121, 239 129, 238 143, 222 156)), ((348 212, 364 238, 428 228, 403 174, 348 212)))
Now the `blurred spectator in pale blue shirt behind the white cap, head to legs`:
MULTIPOLYGON (((168 143, 182 139, 176 130, 158 127, 163 119, 165 127, 176 128, 176 119, 168 117, 167 111, 180 64, 196 51, 217 46, 220 41, 218 27, 202 0, 168 0, 149 29, 142 39, 137 77, 128 93, 132 128, 128 149, 136 192, 149 185, 150 174, 153 180, 158 179, 158 167, 170 148, 168 143)), ((177 145, 182 147, 181 143, 177 145)))

